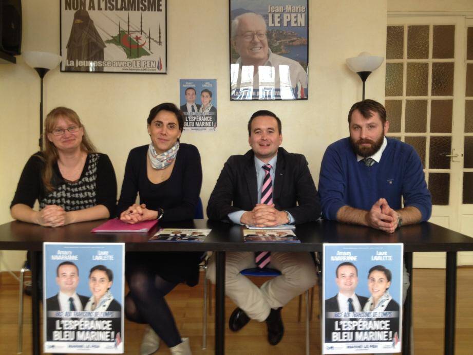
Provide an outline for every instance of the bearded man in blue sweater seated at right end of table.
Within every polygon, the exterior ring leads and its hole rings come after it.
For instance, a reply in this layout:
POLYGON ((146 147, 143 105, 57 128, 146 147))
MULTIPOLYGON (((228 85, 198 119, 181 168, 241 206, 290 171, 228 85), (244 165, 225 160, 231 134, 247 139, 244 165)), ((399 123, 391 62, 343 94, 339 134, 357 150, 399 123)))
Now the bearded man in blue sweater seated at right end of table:
MULTIPOLYGON (((348 124, 350 137, 329 145, 320 166, 322 218, 387 233, 428 220, 432 201, 421 159, 411 145, 385 137, 389 121, 384 106, 357 102, 348 124)), ((408 287, 404 268, 404 300, 408 287)))

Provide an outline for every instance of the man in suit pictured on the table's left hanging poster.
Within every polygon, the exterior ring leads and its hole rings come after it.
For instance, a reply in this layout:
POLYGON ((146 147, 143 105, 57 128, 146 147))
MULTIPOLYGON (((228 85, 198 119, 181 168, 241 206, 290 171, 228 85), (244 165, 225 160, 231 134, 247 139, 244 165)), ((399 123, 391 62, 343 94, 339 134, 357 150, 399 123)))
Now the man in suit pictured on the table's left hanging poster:
POLYGON ((56 284, 59 293, 46 300, 47 314, 47 340, 52 341, 52 332, 55 329, 55 321, 59 318, 49 312, 54 311, 82 311, 89 297, 77 294, 75 289, 79 285, 79 269, 72 261, 63 261, 56 268, 56 284))

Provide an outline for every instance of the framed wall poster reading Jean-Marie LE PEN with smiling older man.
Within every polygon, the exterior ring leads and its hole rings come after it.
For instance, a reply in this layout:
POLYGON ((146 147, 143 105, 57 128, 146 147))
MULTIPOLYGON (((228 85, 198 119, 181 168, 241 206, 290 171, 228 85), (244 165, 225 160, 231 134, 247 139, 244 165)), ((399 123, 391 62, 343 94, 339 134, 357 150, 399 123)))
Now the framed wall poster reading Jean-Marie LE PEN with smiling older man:
POLYGON ((308 98, 308 1, 230 0, 230 99, 308 98))

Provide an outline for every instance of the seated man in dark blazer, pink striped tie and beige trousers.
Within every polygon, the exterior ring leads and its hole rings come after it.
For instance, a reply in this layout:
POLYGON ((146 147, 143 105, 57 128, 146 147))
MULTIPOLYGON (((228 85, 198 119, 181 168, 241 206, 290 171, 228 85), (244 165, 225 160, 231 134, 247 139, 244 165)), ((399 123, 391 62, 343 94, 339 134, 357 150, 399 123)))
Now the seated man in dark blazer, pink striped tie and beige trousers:
MULTIPOLYGON (((255 112, 248 122, 248 134, 252 149, 226 161, 210 196, 207 216, 256 227, 318 219, 320 205, 307 160, 279 147, 279 118, 268 110, 255 112)), ((215 284, 214 259, 209 264, 209 275, 215 284)), ((238 306, 230 316, 230 329, 238 331, 250 319, 266 321, 268 341, 276 345, 284 333, 281 308, 315 283, 315 266, 309 253, 226 253, 226 295, 238 306), (255 266, 269 266, 281 275, 258 288, 240 274, 255 266)))

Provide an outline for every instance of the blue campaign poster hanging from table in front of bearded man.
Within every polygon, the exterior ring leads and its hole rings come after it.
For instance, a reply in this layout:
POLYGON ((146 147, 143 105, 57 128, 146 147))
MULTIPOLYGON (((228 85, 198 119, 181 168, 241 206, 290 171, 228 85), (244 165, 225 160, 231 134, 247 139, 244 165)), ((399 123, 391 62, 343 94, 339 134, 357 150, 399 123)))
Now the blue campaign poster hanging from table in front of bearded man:
POLYGON ((324 354, 401 352, 402 244, 324 244, 324 354))

